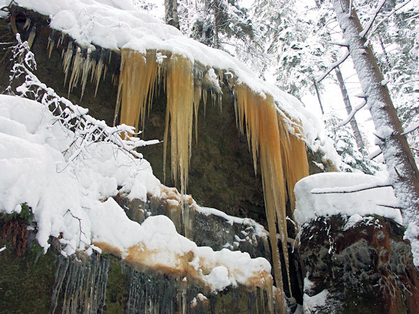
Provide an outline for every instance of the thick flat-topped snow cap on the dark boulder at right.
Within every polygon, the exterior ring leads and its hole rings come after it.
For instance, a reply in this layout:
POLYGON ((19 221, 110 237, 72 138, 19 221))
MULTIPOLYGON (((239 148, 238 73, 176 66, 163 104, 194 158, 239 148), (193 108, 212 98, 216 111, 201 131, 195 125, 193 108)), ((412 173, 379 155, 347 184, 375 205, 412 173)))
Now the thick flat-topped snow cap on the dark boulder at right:
POLYGON ((391 187, 381 187, 359 192, 348 193, 358 188, 383 185, 387 180, 354 173, 321 173, 313 174, 295 184, 294 217, 298 225, 320 216, 342 214, 349 216, 350 222, 355 224, 360 216, 376 214, 402 223, 397 200, 391 187), (346 193, 330 193, 342 190, 346 193), (328 193, 328 194, 314 194, 328 193))

